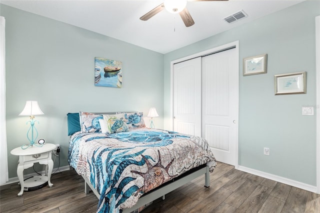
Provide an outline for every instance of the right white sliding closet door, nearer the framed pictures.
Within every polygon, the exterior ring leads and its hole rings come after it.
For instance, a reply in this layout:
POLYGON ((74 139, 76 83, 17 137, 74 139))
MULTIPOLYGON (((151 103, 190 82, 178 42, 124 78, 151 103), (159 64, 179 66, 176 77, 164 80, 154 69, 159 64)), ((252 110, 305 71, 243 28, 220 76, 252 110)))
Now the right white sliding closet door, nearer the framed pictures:
POLYGON ((218 161, 235 164, 238 67, 235 48, 202 57, 202 137, 218 161))

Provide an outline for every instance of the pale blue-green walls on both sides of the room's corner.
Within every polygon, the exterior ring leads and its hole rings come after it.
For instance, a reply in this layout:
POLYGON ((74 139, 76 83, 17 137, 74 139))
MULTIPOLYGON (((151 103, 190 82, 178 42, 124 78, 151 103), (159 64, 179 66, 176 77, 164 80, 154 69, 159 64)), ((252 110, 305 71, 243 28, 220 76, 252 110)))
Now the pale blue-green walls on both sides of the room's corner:
MULTIPOLYGON (((36 117, 39 137, 61 145, 61 166, 68 164, 67 112, 147 113, 155 106, 157 127, 166 127, 170 61, 239 40, 239 164, 316 184, 315 116, 301 116, 301 106, 315 106, 319 1, 299 3, 164 56, 3 4, 0 14, 6 18, 8 151, 26 142, 28 118, 17 114, 29 99, 37 100, 45 113, 36 117), (268 54, 267 73, 242 76, 242 58, 261 53, 268 54), (123 62, 122 88, 94 86, 95 56, 123 62), (307 93, 274 95, 273 75, 294 71, 307 72, 307 93), (263 147, 270 148, 270 156, 263 155, 263 147)), ((16 176, 16 164, 17 157, 8 153, 9 177, 16 176)))

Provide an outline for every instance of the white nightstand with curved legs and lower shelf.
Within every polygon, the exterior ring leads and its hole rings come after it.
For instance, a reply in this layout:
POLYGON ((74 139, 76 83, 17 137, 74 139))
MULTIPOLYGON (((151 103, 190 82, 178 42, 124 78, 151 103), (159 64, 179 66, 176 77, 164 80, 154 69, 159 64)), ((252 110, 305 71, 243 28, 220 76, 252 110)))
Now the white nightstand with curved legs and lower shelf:
POLYGON ((14 148, 10 151, 13 155, 19 156, 18 167, 16 173, 20 182, 21 190, 18 196, 22 196, 23 189, 28 187, 34 187, 48 182, 49 187, 52 187, 50 181, 51 172, 53 168, 53 161, 51 159, 51 151, 55 148, 55 144, 45 143, 42 147, 30 146, 26 149, 22 149, 21 146, 14 148), (46 164, 45 174, 46 176, 34 176, 23 181, 23 170, 33 166, 33 163, 38 162, 40 164, 46 164))

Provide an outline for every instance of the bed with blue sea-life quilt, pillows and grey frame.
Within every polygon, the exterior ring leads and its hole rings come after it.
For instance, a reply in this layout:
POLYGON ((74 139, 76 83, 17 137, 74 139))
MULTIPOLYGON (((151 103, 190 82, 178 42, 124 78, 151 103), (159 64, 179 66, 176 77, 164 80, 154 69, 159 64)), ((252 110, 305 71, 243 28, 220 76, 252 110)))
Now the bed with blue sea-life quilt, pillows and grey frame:
POLYGON ((146 128, 142 112, 68 113, 68 162, 97 212, 131 212, 215 168, 205 139, 146 128))

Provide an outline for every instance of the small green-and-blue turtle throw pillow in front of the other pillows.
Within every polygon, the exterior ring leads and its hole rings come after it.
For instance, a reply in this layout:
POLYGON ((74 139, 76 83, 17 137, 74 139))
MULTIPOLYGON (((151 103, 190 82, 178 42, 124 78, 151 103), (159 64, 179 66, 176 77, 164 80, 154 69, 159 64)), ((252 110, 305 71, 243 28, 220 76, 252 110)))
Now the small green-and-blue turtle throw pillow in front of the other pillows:
POLYGON ((106 121, 109 133, 116 133, 129 130, 122 114, 103 115, 103 119, 106 121))

